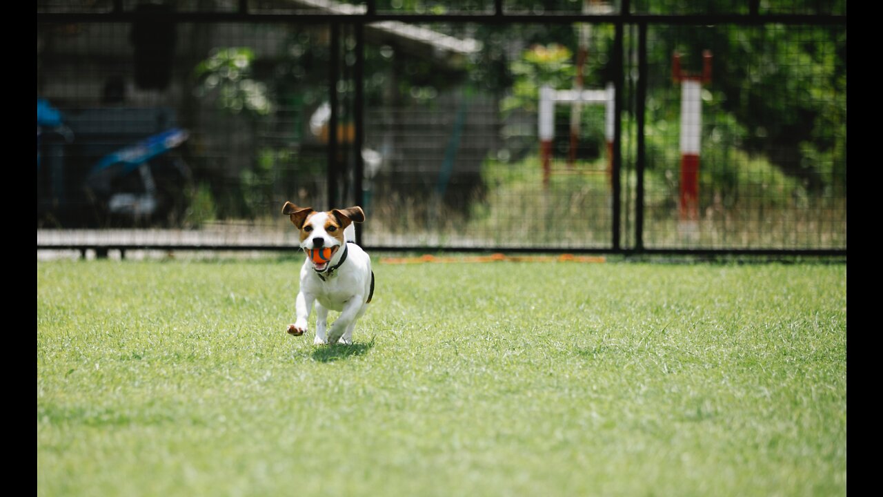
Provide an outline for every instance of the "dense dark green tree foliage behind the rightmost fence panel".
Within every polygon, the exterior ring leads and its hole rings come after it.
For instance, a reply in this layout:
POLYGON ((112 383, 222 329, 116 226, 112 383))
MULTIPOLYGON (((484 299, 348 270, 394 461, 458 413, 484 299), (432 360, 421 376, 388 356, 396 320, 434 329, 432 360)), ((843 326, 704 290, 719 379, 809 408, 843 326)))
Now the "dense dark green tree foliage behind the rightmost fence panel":
MULTIPOLYGON (((811 192, 845 187, 846 34, 838 27, 653 27, 650 65, 672 51, 696 70, 712 50, 709 88, 743 133, 740 148, 762 154, 811 192), (691 65, 691 62, 692 65, 691 65)), ((665 85, 653 91, 665 95, 665 85)), ((653 117, 659 119, 659 117, 653 117)))

